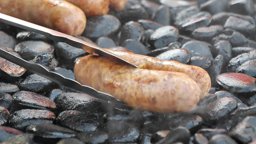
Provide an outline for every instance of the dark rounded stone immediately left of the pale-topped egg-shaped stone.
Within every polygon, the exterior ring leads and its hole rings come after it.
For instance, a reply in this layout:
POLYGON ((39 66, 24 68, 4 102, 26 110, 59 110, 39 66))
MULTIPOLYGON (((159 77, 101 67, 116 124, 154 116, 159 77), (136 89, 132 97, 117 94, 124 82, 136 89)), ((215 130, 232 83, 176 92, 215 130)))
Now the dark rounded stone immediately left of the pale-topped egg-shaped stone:
POLYGON ((121 28, 119 44, 121 45, 126 39, 140 41, 144 31, 143 26, 138 22, 130 21, 125 23, 121 28))

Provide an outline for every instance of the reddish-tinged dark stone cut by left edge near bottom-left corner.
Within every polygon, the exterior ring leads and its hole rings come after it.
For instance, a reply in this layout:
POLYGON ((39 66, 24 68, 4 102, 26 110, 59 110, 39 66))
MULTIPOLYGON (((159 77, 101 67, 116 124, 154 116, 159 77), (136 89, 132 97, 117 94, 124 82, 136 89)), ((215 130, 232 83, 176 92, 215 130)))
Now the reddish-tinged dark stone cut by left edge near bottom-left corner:
POLYGON ((23 132, 13 129, 11 127, 0 126, 0 142, 18 134, 23 134, 23 132))

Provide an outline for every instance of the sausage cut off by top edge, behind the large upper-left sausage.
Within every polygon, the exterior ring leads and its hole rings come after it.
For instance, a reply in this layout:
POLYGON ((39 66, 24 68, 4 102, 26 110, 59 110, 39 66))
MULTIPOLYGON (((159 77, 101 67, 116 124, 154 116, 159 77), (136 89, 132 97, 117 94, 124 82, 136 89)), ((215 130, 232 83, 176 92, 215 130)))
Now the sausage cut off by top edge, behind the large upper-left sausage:
POLYGON ((85 12, 86 17, 107 14, 110 0, 66 0, 85 12))

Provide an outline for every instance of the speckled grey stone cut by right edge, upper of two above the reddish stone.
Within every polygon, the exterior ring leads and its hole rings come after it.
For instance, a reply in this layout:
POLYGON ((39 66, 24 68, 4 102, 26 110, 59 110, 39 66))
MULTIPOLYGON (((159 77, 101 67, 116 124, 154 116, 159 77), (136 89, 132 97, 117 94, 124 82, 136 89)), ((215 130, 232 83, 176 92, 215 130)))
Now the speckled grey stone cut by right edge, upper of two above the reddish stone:
POLYGON ((256 59, 256 50, 252 50, 248 53, 242 53, 232 58, 227 66, 228 72, 235 72, 236 69, 248 60, 256 59))

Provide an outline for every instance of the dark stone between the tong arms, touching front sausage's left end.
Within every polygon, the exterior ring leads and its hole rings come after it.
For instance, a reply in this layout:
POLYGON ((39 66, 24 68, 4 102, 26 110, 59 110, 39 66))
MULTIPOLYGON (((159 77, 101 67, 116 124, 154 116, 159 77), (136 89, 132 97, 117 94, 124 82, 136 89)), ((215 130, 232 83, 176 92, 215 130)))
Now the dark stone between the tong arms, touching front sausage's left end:
POLYGON ((69 69, 73 69, 73 62, 75 58, 82 57, 88 54, 85 50, 81 48, 75 48, 63 42, 57 42, 53 46, 55 48, 55 53, 58 60, 60 61, 61 66, 69 69))

